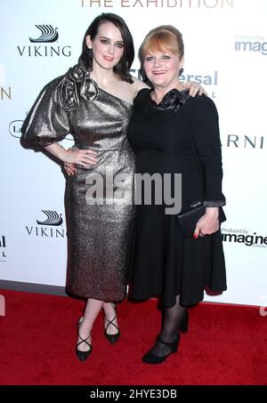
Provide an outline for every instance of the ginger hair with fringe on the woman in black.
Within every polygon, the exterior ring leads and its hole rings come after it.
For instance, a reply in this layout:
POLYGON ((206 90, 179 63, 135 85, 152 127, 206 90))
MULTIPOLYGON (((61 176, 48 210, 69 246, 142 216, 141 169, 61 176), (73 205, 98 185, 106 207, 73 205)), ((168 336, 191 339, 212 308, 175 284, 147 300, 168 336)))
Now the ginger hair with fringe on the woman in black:
POLYGON ((168 51, 182 58, 184 47, 181 32, 172 25, 161 25, 151 29, 141 45, 142 61, 147 53, 153 51, 168 51))

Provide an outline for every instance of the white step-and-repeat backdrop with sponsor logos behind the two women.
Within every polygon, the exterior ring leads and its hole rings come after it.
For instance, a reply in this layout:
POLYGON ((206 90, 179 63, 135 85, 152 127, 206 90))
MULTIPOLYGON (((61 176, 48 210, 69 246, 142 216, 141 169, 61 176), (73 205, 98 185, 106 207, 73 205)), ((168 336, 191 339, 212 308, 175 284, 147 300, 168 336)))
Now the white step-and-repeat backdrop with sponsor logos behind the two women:
MULTIPOLYGON (((1 0, 0 10, 0 278, 65 284, 65 179, 50 157, 20 146, 20 127, 42 87, 77 63, 93 18, 115 12, 136 53, 150 28, 179 28, 182 79, 203 85, 219 111, 228 290, 205 301, 266 306, 267 1, 1 0)), ((136 57, 136 77, 139 67, 136 57)))

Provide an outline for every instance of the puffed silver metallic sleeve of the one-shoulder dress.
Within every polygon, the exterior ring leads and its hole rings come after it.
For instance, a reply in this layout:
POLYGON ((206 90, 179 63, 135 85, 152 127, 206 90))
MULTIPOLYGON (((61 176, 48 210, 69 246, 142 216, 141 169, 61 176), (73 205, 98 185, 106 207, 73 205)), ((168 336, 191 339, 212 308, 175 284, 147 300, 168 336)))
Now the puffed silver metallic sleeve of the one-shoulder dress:
POLYGON ((62 77, 44 86, 21 127, 21 143, 45 147, 70 133, 69 116, 61 101, 62 77))

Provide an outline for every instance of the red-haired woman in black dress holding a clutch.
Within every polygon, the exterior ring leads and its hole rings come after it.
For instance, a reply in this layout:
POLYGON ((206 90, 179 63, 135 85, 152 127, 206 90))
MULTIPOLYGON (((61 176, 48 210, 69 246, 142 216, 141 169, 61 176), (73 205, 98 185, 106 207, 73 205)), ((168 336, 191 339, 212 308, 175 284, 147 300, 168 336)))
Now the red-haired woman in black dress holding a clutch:
POLYGON ((181 173, 182 212, 198 203, 206 206, 188 239, 182 236, 176 214, 166 214, 166 203, 158 204, 152 195, 150 205, 142 198, 137 207, 130 296, 161 296, 161 331, 142 358, 155 364, 177 351, 179 331, 186 332, 188 326, 186 307, 203 299, 206 286, 216 292, 226 289, 218 219, 225 198, 217 111, 205 95, 192 98, 182 91, 181 33, 172 26, 152 29, 141 56, 153 89, 138 93, 128 126, 136 173, 159 173, 164 186, 168 176, 173 196, 174 174, 181 173))

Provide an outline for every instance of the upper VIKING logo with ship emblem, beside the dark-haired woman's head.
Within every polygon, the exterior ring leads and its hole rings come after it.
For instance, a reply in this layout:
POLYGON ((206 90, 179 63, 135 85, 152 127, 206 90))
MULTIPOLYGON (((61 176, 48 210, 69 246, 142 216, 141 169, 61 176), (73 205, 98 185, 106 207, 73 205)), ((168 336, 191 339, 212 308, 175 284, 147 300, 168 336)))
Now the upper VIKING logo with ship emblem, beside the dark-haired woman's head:
POLYGON ((39 36, 36 37, 29 36, 28 38, 29 42, 35 45, 26 45, 26 44, 18 45, 17 48, 20 56, 69 57, 71 55, 71 49, 69 45, 61 46, 60 44, 58 45, 53 44, 59 39, 58 28, 53 28, 52 25, 36 25, 36 28, 39 30, 39 36))

